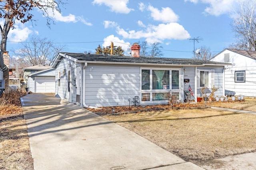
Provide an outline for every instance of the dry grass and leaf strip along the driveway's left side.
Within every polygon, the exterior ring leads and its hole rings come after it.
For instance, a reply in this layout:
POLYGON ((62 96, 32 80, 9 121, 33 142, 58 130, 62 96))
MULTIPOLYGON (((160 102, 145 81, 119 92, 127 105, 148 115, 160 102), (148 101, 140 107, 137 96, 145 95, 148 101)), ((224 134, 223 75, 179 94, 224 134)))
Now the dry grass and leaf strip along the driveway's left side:
POLYGON ((0 98, 0 169, 33 170, 27 126, 22 115, 21 92, 10 92, 0 98))

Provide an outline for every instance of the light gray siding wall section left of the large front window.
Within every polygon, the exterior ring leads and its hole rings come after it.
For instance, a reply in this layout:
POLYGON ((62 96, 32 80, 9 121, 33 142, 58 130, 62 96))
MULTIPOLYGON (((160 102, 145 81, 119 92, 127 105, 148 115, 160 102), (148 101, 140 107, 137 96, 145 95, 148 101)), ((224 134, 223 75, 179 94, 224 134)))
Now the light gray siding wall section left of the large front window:
POLYGON ((127 106, 140 96, 140 66, 88 64, 85 102, 90 106, 127 106))

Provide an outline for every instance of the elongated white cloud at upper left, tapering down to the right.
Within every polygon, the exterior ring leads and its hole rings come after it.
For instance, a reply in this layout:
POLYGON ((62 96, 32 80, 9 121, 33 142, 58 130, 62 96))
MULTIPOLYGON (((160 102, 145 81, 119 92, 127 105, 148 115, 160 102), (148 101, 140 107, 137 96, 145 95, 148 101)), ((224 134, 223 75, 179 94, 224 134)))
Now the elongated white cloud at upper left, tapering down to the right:
POLYGON ((82 16, 75 16, 73 14, 69 14, 68 16, 62 16, 62 14, 55 9, 53 11, 51 9, 48 9, 48 14, 56 21, 73 23, 80 21, 88 26, 92 26, 92 23, 86 22, 82 16))

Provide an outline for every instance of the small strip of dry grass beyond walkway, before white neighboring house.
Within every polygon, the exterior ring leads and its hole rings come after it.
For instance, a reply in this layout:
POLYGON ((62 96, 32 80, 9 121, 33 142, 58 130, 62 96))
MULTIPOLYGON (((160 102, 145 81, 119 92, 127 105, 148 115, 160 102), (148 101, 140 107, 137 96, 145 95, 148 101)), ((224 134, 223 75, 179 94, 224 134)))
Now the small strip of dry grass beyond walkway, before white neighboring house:
POLYGON ((235 101, 235 102, 213 102, 208 103, 208 105, 216 107, 225 107, 230 109, 239 109, 247 111, 256 111, 256 99, 255 98, 245 98, 244 101, 235 101))

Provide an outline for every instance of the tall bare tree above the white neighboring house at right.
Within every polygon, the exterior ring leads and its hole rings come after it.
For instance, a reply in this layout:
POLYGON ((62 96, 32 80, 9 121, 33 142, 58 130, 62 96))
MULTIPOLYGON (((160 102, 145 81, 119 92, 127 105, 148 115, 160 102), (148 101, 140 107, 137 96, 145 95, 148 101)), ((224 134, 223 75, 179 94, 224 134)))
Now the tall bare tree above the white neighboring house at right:
POLYGON ((236 43, 232 48, 256 50, 256 0, 238 1, 238 8, 233 10, 232 31, 236 43))

